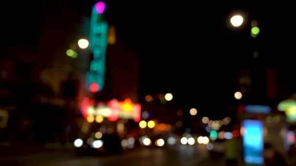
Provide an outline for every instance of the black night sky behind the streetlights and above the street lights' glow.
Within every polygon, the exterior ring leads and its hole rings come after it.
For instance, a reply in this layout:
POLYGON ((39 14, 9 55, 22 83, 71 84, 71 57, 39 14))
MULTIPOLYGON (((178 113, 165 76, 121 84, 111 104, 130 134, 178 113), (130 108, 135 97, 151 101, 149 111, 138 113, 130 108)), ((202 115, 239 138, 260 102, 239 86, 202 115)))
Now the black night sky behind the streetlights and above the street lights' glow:
MULTIPOLYGON (((82 15, 89 16, 96 1, 68 2, 82 15)), ((171 92, 175 100, 189 105, 208 104, 217 99, 222 104, 233 99, 237 90, 237 69, 252 66, 253 48, 260 51, 265 65, 289 68, 287 64, 292 64, 295 56, 295 15, 286 8, 222 7, 227 4, 213 7, 210 3, 193 1, 108 0, 107 3, 107 19, 117 25, 122 40, 140 53, 142 98, 147 94, 171 92), (240 31, 230 31, 225 27, 225 20, 231 11, 239 9, 247 14, 246 26, 240 31), (261 30, 256 40, 250 36, 251 19, 258 20, 261 30)), ((34 3, 31 4, 19 6, 19 13, 38 12, 34 3)), ((12 14, 11 10, 9 13, 12 14)), ((10 16, 6 18, 9 22, 23 18, 20 14, 10 16)), ((23 24, 26 19, 19 21, 23 24)))

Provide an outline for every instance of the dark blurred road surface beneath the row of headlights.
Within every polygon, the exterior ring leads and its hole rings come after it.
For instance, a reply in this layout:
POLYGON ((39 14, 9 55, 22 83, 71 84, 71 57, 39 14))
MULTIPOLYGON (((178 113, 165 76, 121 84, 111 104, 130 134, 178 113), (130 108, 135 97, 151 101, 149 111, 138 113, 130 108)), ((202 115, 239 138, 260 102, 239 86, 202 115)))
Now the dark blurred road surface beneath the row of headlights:
MULTIPOLYGON (((120 155, 77 156, 73 150, 0 157, 1 166, 196 166, 208 157, 205 146, 130 149, 120 155)), ((204 162, 203 162, 204 163, 204 162)))

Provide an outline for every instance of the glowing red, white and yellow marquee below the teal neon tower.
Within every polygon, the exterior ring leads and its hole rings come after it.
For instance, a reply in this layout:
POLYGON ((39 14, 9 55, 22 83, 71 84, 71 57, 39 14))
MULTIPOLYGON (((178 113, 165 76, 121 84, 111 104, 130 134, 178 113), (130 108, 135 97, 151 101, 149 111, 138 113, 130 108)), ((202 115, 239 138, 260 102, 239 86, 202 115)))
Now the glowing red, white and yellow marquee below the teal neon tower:
POLYGON ((118 118, 133 119, 139 122, 141 119, 141 105, 134 104, 130 99, 118 101, 113 99, 107 103, 84 98, 82 100, 82 114, 84 118, 89 115, 108 117, 110 121, 116 121, 118 118))

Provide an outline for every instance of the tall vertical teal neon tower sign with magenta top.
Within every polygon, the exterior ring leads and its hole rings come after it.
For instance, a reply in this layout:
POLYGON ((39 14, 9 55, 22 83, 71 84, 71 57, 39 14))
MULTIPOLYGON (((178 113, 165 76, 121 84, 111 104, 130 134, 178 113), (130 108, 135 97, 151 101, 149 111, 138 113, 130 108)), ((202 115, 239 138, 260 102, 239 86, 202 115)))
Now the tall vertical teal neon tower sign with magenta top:
POLYGON ((92 7, 90 50, 93 53, 93 60, 90 63, 90 70, 86 75, 86 88, 91 92, 99 92, 105 83, 105 62, 107 50, 108 24, 104 20, 106 4, 97 2, 92 7))

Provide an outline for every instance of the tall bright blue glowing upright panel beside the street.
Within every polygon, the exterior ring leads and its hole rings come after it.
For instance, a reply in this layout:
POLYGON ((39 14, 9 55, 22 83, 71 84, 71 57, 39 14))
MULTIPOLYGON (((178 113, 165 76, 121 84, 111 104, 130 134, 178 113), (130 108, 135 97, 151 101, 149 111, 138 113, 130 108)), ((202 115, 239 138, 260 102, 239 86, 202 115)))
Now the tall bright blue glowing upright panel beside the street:
POLYGON ((243 161, 250 165, 263 164, 263 123, 259 120, 244 120, 243 126, 243 161))

